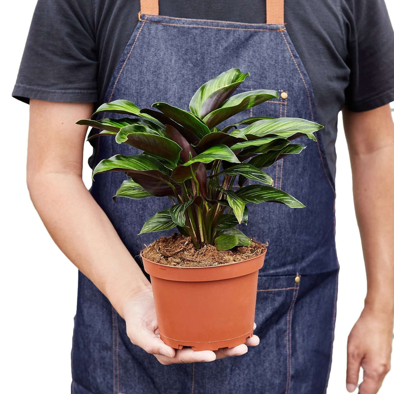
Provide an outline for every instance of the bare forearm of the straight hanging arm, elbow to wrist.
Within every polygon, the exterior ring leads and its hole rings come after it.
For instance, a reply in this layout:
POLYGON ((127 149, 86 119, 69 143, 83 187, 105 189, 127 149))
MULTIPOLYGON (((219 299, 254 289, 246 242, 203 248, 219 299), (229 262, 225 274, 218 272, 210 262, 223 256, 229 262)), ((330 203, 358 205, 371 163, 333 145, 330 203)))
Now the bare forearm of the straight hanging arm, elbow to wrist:
POLYGON ((394 143, 351 152, 353 193, 367 274, 365 307, 394 316, 394 143))

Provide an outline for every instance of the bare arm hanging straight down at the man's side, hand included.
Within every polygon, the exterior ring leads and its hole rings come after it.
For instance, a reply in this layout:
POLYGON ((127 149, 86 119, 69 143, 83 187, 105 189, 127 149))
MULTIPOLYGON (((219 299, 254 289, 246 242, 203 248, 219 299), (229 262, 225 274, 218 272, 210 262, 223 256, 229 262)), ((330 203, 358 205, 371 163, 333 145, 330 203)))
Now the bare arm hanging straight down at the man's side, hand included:
POLYGON ((347 388, 363 368, 361 394, 376 394, 390 370, 394 318, 394 124, 389 104, 343 109, 353 195, 367 275, 364 309, 348 338, 347 388))

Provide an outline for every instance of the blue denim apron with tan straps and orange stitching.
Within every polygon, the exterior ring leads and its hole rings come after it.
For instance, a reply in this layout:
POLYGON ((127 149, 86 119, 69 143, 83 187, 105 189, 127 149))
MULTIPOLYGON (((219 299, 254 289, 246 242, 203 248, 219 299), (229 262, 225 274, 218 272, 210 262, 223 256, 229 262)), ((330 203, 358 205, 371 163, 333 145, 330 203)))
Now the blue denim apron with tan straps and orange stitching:
MULTIPOLYGON (((129 99, 139 108, 156 101, 188 109, 194 92, 232 67, 250 76, 234 94, 272 89, 279 99, 244 110, 219 127, 248 116, 300 117, 318 122, 308 74, 284 24, 284 0, 266 0, 267 23, 189 19, 159 14, 158 0, 141 0, 138 24, 124 49, 103 102, 129 99)), ((291 21, 289 21, 291 23, 291 21)), ((307 28, 307 27, 306 27, 307 28)), ((104 114, 108 117, 112 114, 104 114)), ((92 130, 90 134, 98 130, 92 130)), ((267 169, 274 186, 305 208, 248 204, 249 236, 268 243, 259 271, 255 333, 248 353, 213 362, 162 365, 135 346, 125 321, 95 285, 79 273, 72 346, 74 394, 322 394, 331 364, 338 263, 335 189, 321 134, 267 169)), ((91 140, 93 168, 115 154, 137 150, 113 136, 91 140)), ((144 244, 173 231, 137 235, 166 198, 112 200, 126 175, 98 174, 90 193, 137 260, 144 244)), ((147 274, 146 274, 147 275, 147 274)), ((147 275, 149 278, 149 276, 147 275)))

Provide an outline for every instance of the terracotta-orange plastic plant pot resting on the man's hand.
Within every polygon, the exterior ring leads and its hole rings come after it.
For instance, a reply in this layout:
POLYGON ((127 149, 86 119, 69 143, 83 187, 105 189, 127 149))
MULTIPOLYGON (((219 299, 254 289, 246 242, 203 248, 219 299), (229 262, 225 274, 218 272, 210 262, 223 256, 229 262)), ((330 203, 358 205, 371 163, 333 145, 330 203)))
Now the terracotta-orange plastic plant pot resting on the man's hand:
POLYGON ((253 335, 263 254, 208 267, 174 267, 142 256, 151 277, 160 337, 175 349, 217 350, 253 335))

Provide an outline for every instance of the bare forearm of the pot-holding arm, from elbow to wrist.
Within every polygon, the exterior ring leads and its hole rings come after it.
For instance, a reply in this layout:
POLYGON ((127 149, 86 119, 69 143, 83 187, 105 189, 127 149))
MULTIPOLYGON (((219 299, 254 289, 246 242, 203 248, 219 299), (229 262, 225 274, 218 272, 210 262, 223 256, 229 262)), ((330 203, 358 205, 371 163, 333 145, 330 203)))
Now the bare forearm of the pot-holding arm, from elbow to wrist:
POLYGON ((123 316, 124 301, 150 284, 81 177, 41 172, 28 187, 55 243, 123 316))

